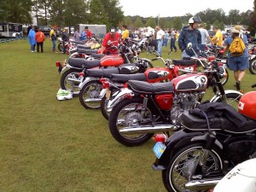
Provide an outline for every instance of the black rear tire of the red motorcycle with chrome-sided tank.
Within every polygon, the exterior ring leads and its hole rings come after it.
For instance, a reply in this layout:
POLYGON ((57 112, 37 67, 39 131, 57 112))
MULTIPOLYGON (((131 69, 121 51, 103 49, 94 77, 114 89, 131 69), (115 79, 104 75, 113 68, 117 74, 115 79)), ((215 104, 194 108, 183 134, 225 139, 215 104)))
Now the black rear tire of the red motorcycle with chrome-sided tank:
MULTIPOLYGON (((125 120, 131 120, 131 118, 140 118, 139 113, 136 112, 135 110, 127 110, 127 111, 122 111, 124 108, 131 108, 134 105, 143 105, 143 98, 141 97, 133 97, 131 99, 125 99, 122 102, 119 102, 118 105, 116 105, 113 109, 112 112, 110 113, 110 116, 108 118, 109 122, 109 131, 111 132, 113 138, 118 141, 119 143, 128 146, 128 147, 134 147, 134 146, 139 146, 142 145, 143 143, 146 143, 151 137, 153 137, 154 133, 144 133, 144 134, 137 134, 137 135, 122 135, 119 133, 119 129, 127 126, 127 123, 131 123, 131 121, 126 122, 125 125, 125 120), (121 113, 123 112, 123 113, 121 113), (131 118, 127 117, 128 115, 133 115, 131 118), (137 115, 137 117, 136 117, 137 115), (120 116, 124 116, 123 119, 120 119, 120 116), (128 118, 128 119, 124 119, 128 118), (119 120, 119 125, 121 125, 122 122, 120 120, 123 120, 123 127, 119 127, 117 125, 117 122, 119 120)), ((138 109, 139 110, 139 109, 138 109)), ((152 108, 149 108, 147 106, 146 108, 146 114, 148 114, 148 118, 152 119, 154 110, 152 108)), ((134 119, 136 120, 136 119, 134 119)), ((132 122, 133 123, 133 122, 132 122)))

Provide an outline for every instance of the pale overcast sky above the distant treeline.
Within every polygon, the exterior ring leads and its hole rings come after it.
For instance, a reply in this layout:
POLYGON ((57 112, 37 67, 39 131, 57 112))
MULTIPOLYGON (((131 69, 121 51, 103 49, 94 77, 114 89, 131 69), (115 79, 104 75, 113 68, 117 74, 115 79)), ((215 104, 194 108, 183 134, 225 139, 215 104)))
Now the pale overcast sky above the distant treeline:
POLYGON ((230 9, 245 12, 253 10, 253 0, 119 0, 124 15, 140 15, 142 17, 195 15, 199 11, 209 9, 224 9, 226 14, 230 9))

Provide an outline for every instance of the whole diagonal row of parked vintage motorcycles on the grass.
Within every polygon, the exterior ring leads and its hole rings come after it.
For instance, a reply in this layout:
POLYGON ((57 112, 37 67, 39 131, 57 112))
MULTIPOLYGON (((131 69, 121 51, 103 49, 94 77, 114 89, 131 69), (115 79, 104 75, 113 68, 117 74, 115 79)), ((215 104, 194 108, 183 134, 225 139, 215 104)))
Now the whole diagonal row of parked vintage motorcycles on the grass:
POLYGON ((61 89, 79 96, 84 108, 101 109, 117 142, 135 147, 154 137, 152 167, 168 191, 209 191, 255 158, 256 91, 224 90, 229 73, 222 48, 208 49, 206 58, 150 61, 139 57, 138 43, 108 42, 118 55, 77 44, 63 64, 56 62, 61 89), (203 102, 207 89, 214 95, 203 102))

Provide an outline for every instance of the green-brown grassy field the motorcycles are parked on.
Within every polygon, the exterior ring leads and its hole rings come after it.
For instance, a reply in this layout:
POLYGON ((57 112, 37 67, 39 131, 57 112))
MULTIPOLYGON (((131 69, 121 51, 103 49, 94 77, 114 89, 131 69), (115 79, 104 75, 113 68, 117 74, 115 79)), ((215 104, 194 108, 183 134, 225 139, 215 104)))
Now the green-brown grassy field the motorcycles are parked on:
MULTIPOLYGON (((31 53, 27 40, 0 43, 0 191, 165 191, 151 168, 153 140, 127 148, 99 110, 84 109, 78 97, 56 100, 55 61, 65 58, 51 51, 49 39, 43 54, 31 53)), ((248 91, 253 83, 247 73, 241 86, 248 91)), ((233 84, 230 73, 226 88, 233 84)))

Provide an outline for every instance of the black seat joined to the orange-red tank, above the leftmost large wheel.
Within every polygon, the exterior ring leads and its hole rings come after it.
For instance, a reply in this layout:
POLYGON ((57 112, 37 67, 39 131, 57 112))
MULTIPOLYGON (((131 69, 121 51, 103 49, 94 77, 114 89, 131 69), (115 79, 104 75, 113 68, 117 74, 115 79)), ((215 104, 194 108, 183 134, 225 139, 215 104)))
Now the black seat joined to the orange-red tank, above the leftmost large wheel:
POLYGON ((70 57, 68 59, 68 64, 76 68, 83 68, 83 67, 92 68, 92 67, 99 67, 101 65, 101 61, 100 60, 88 61, 83 58, 70 57))

